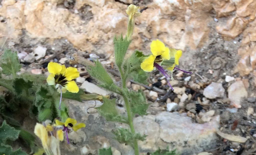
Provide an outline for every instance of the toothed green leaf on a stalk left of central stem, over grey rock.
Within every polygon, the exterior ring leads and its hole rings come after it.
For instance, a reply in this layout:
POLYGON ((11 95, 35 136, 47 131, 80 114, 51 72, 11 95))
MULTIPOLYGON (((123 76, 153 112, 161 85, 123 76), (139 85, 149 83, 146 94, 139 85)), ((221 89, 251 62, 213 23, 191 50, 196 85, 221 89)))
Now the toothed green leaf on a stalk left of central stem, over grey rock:
POLYGON ((107 121, 123 122, 126 119, 118 113, 115 106, 115 99, 107 99, 103 97, 103 105, 96 108, 101 116, 105 117, 107 121))

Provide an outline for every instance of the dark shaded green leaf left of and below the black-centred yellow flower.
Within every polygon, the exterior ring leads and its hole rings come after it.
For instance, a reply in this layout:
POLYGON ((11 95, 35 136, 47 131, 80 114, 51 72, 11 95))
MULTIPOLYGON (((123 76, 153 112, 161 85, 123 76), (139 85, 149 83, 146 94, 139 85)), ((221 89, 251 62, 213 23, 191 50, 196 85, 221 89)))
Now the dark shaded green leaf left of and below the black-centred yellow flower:
POLYGON ((13 81, 13 88, 17 95, 24 93, 24 96, 29 96, 29 89, 33 86, 33 81, 25 81, 22 78, 16 78, 13 81))

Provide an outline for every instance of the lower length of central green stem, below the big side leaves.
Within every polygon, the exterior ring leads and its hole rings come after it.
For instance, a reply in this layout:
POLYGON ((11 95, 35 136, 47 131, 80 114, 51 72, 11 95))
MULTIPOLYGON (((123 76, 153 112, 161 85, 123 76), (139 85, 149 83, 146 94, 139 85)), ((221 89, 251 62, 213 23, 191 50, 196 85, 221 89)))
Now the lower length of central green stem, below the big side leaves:
MULTIPOLYGON (((127 110, 129 126, 130 126, 132 134, 135 135, 135 129, 134 129, 134 126, 133 126, 133 121, 132 121, 133 117, 132 117, 132 112, 131 112, 131 109, 130 109, 130 105, 129 105, 129 102, 128 102, 127 98, 125 96, 123 96, 123 98, 124 98, 124 103, 125 103, 125 107, 126 107, 126 110, 127 110)), ((137 139, 133 140, 133 147, 134 147, 135 155, 139 155, 139 148, 138 148, 137 139)))

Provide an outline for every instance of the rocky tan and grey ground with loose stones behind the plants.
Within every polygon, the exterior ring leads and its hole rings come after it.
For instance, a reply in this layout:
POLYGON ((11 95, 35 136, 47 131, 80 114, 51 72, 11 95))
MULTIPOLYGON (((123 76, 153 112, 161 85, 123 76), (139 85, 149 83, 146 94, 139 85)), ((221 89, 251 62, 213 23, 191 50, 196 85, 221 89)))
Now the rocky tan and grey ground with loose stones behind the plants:
MULTIPOLYGON (((147 54, 151 41, 158 38, 169 47, 182 49, 179 67, 193 72, 187 75, 175 71, 171 81, 174 91, 158 71, 152 72, 146 86, 127 81, 130 89, 142 89, 151 104, 147 116, 134 120, 135 130, 148 135, 146 141, 139 142, 141 152, 169 146, 188 155, 255 153, 256 1, 1 3, 0 37, 3 42, 7 39, 5 48, 18 51, 21 72, 47 76, 49 61, 69 66, 69 57, 78 53, 90 60, 98 58, 117 82, 120 77, 115 74, 113 37, 125 34, 124 10, 128 4, 139 5, 144 11, 136 19, 129 52, 138 49, 147 54)), ((120 113, 125 112, 120 97, 97 87, 83 66, 74 67, 81 73, 77 79, 80 88, 117 97, 116 106, 120 113)), ((97 106, 101 104, 97 102, 97 106)), ((62 143, 63 154, 97 154, 99 148, 109 146, 115 155, 133 154, 129 146, 112 139, 111 130, 125 127, 123 124, 106 122, 94 108, 87 113, 94 101, 67 100, 67 105, 71 117, 87 126, 71 133, 72 144, 62 143)))

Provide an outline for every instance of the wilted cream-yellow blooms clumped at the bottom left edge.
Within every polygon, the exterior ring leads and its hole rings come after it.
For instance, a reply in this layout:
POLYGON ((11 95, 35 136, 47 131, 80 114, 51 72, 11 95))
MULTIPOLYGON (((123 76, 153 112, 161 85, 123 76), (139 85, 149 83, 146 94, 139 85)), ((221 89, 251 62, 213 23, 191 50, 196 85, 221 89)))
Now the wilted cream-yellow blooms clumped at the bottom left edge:
POLYGON ((40 138, 47 155, 60 155, 59 141, 63 140, 61 128, 50 125, 50 120, 42 124, 36 123, 34 133, 40 138))

